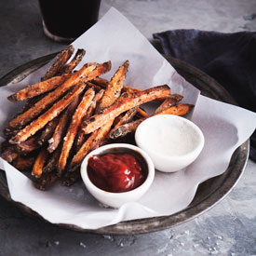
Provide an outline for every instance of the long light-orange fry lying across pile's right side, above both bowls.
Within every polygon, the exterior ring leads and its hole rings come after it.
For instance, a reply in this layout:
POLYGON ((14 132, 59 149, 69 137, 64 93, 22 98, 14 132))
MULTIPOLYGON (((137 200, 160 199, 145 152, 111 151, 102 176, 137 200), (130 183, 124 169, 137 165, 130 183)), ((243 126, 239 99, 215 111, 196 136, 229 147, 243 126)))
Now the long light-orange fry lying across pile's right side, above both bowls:
POLYGON ((155 88, 149 88, 138 93, 135 97, 121 97, 120 101, 116 101, 113 105, 105 109, 100 115, 93 115, 88 121, 83 122, 82 128, 85 133, 90 133, 107 123, 110 119, 115 118, 130 108, 136 107, 147 101, 166 97, 170 94, 170 88, 167 85, 155 88))

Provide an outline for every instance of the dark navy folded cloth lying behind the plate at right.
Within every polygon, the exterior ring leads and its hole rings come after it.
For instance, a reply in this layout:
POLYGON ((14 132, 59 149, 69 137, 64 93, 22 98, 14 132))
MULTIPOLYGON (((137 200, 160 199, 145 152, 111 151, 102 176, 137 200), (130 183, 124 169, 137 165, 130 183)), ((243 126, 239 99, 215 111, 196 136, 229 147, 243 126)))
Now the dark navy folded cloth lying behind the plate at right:
MULTIPOLYGON (((209 74, 239 106, 256 112, 256 33, 173 30, 153 36, 164 54, 209 74)), ((250 138, 249 156, 256 162, 256 130, 250 138)))

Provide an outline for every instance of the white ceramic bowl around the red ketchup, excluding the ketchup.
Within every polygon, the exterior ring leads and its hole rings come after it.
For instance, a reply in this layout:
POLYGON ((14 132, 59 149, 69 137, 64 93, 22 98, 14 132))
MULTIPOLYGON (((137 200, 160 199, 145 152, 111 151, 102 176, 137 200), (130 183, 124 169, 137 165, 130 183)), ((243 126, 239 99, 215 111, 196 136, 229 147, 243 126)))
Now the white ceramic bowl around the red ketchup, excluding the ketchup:
POLYGON ((93 195, 98 201, 104 205, 110 206, 112 208, 118 209, 122 205, 128 202, 134 202, 141 198, 144 195, 155 177, 155 167, 150 156, 145 153, 141 148, 126 144, 126 143, 113 143, 99 147, 98 149, 90 152, 86 158, 83 160, 81 165, 81 176, 82 180, 85 183, 88 192, 93 195), (128 192, 108 192, 104 191, 101 188, 97 187, 91 180, 88 175, 88 160, 93 155, 105 155, 108 153, 118 154, 118 153, 128 153, 134 155, 140 162, 143 162, 145 168, 147 168, 147 175, 144 182, 140 186, 134 188, 128 192))

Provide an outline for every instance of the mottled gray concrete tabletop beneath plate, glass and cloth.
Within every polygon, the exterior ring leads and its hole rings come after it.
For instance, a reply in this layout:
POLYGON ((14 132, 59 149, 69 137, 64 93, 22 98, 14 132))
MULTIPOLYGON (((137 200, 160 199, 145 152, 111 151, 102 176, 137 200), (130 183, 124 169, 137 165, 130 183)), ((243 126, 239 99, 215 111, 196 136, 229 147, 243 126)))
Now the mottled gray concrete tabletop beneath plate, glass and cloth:
MULTIPOLYGON (((255 0, 102 0, 101 16, 116 7, 141 33, 194 28, 256 31, 255 0)), ((0 77, 64 45, 43 34, 37 1, 0 1, 0 77)), ((234 190, 194 221, 140 236, 98 236, 64 230, 24 215, 0 199, 0 256, 256 255, 256 164, 249 161, 234 190)))

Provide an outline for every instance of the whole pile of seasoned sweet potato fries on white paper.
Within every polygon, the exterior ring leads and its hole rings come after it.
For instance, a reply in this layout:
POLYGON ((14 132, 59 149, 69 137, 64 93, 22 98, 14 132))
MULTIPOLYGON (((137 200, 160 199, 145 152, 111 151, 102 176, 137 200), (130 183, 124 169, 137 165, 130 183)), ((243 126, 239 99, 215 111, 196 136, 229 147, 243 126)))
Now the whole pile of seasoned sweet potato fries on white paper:
POLYGON ((26 101, 4 129, 1 157, 21 171, 32 169, 36 188, 45 190, 57 180, 72 185, 80 179, 86 155, 102 144, 136 130, 148 115, 140 106, 157 101, 153 115, 186 115, 193 107, 179 104, 182 96, 167 85, 145 90, 124 86, 129 62, 110 81, 101 78, 111 61, 89 62, 74 71, 85 55, 74 47, 61 51, 41 82, 10 95, 26 101))

